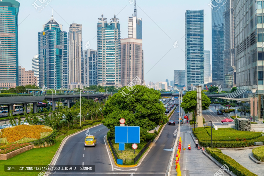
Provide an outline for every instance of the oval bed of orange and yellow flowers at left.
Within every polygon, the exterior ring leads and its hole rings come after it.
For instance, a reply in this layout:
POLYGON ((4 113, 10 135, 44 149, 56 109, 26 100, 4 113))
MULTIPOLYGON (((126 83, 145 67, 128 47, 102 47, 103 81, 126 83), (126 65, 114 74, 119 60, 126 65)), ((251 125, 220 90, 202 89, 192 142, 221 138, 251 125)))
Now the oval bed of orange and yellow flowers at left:
POLYGON ((2 129, 0 143, 29 143, 48 137, 53 129, 44 125, 18 125, 2 129))

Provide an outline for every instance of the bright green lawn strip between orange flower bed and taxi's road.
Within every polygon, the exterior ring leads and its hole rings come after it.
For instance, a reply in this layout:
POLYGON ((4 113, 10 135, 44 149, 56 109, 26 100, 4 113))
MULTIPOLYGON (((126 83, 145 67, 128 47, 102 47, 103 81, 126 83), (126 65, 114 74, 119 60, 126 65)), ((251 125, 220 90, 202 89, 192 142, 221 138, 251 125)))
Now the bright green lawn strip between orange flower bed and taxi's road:
MULTIPOLYGON (((91 126, 97 125, 101 122, 95 122, 93 125, 83 126, 82 129, 89 128, 91 126)), ((56 138, 55 144, 50 147, 43 148, 33 148, 24 153, 14 156, 13 158, 9 158, 8 160, 0 160, 0 175, 1 176, 9 176, 9 175, 23 175, 23 176, 36 176, 39 172, 4 172, 4 165, 48 165, 56 151, 60 147, 60 143, 62 140, 77 131, 82 129, 75 129, 68 131, 67 134, 59 136, 56 138)))

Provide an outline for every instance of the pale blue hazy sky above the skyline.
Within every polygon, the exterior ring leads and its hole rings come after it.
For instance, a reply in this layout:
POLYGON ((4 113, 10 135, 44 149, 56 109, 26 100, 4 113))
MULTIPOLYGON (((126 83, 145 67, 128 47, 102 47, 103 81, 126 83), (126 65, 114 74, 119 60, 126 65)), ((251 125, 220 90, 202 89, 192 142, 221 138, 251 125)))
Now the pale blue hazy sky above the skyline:
MULTIPOLYGON (((119 18, 121 38, 128 38, 128 16, 134 12, 134 0, 17 0, 18 62, 31 70, 31 60, 38 54, 38 32, 43 31, 52 14, 69 31, 71 23, 82 24, 83 49, 89 41, 97 49, 97 22, 101 14, 109 23, 119 18), (40 1, 44 2, 42 4, 40 1), (32 4, 38 6, 35 8, 32 4), (47 5, 46 5, 47 4, 47 5), (45 6, 46 5, 46 6, 45 6), (44 7, 44 8, 43 8, 44 7), (43 8, 41 11, 40 9, 43 8)), ((137 17, 142 18, 144 80, 169 82, 174 70, 185 70, 185 12, 204 10, 204 50, 211 52, 211 8, 209 0, 137 0, 137 17), (178 47, 174 48, 177 41, 178 47)), ((176 45, 177 46, 177 45, 176 45)))

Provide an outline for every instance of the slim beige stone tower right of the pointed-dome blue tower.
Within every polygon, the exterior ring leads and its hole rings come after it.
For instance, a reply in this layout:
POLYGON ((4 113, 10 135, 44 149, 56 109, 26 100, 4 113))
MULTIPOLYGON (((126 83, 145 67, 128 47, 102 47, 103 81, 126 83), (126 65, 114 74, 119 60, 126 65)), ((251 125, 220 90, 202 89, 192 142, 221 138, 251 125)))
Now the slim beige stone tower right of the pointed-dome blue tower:
POLYGON ((83 88, 82 25, 72 23, 68 32, 68 89, 83 88))

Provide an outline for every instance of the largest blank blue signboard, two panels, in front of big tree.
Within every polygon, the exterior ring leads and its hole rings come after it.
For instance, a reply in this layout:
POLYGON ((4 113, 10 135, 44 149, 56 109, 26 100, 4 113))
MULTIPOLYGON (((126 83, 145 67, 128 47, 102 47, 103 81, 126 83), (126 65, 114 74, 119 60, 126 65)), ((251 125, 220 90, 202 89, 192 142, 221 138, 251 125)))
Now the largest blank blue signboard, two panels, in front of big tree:
POLYGON ((140 127, 115 126, 115 143, 140 143, 140 127))

